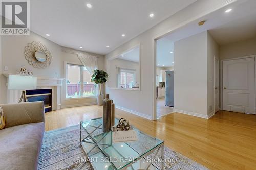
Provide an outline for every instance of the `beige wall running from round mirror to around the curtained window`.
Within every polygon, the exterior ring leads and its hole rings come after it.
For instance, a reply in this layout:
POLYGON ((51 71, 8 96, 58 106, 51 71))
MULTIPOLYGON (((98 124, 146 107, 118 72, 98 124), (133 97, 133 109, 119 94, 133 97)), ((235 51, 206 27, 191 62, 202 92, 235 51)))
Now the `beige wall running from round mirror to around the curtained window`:
MULTIPOLYGON (((3 36, 2 37, 2 72, 3 73, 17 73, 21 67, 32 71, 34 76, 43 77, 60 77, 65 78, 65 61, 74 62, 81 64, 77 55, 65 53, 63 50, 80 52, 70 48, 62 47, 38 34, 30 32, 29 36, 3 36), (44 44, 51 52, 52 63, 49 67, 45 69, 37 69, 28 64, 24 56, 24 47, 27 43, 36 41, 44 44), (4 71, 4 66, 9 67, 9 71, 4 71)), ((81 52, 84 53, 84 52, 81 52)), ((98 67, 99 69, 104 69, 104 59, 102 55, 92 54, 98 56, 98 67)), ((1 92, 2 101, 1 103, 6 103, 6 78, 1 77, 1 92), (4 85, 3 85, 4 84, 4 85)), ((66 80, 63 81, 63 86, 61 87, 61 107, 71 107, 71 106, 82 106, 88 104, 95 104, 96 98, 87 99, 65 99, 66 96, 66 80)))

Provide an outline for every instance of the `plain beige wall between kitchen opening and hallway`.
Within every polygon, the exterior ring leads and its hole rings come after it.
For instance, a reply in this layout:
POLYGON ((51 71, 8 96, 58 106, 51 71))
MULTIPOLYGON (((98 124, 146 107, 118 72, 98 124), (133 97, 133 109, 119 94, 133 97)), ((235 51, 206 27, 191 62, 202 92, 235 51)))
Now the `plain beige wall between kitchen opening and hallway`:
POLYGON ((174 111, 207 117, 207 32, 174 42, 174 111))

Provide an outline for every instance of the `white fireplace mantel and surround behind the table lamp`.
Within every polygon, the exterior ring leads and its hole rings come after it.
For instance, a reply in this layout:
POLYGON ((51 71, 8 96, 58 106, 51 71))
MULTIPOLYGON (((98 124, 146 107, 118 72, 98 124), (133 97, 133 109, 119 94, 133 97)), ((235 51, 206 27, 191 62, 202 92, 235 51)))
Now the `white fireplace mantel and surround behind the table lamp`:
MULTIPOLYGON (((9 75, 19 75, 19 74, 3 74, 5 77, 9 75)), ((26 76, 26 75, 25 75, 26 76)), ((35 75, 33 75, 35 76, 35 75)), ((52 110, 59 110, 61 108, 61 86, 62 81, 65 78, 50 78, 50 77, 37 77, 37 89, 52 89, 52 110)), ((9 90, 8 89, 8 79, 6 83, 7 89, 7 102, 8 103, 17 103, 20 98, 20 90, 9 90)))

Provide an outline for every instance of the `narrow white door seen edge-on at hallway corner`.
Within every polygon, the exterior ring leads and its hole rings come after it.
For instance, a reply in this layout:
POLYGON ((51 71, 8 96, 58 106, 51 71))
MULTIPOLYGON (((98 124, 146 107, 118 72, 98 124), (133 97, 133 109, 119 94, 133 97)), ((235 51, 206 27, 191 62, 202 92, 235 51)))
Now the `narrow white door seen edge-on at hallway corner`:
POLYGON ((219 60, 214 59, 214 105, 215 112, 219 111, 219 101, 220 101, 220 90, 219 90, 219 60))

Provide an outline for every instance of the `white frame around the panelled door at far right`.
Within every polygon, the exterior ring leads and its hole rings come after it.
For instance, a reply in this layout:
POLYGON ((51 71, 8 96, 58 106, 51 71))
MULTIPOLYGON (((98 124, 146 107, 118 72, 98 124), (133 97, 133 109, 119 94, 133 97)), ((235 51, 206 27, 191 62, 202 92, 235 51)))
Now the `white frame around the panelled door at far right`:
MULTIPOLYGON (((255 72, 255 93, 256 93, 256 54, 254 55, 249 55, 249 56, 242 56, 242 57, 236 57, 236 58, 230 58, 230 59, 223 59, 221 60, 221 65, 220 65, 220 110, 223 110, 223 61, 230 61, 230 60, 239 60, 239 59, 245 59, 245 58, 252 58, 254 57, 254 72, 255 72)), ((255 95, 255 108, 256 112, 256 95, 255 95)))

